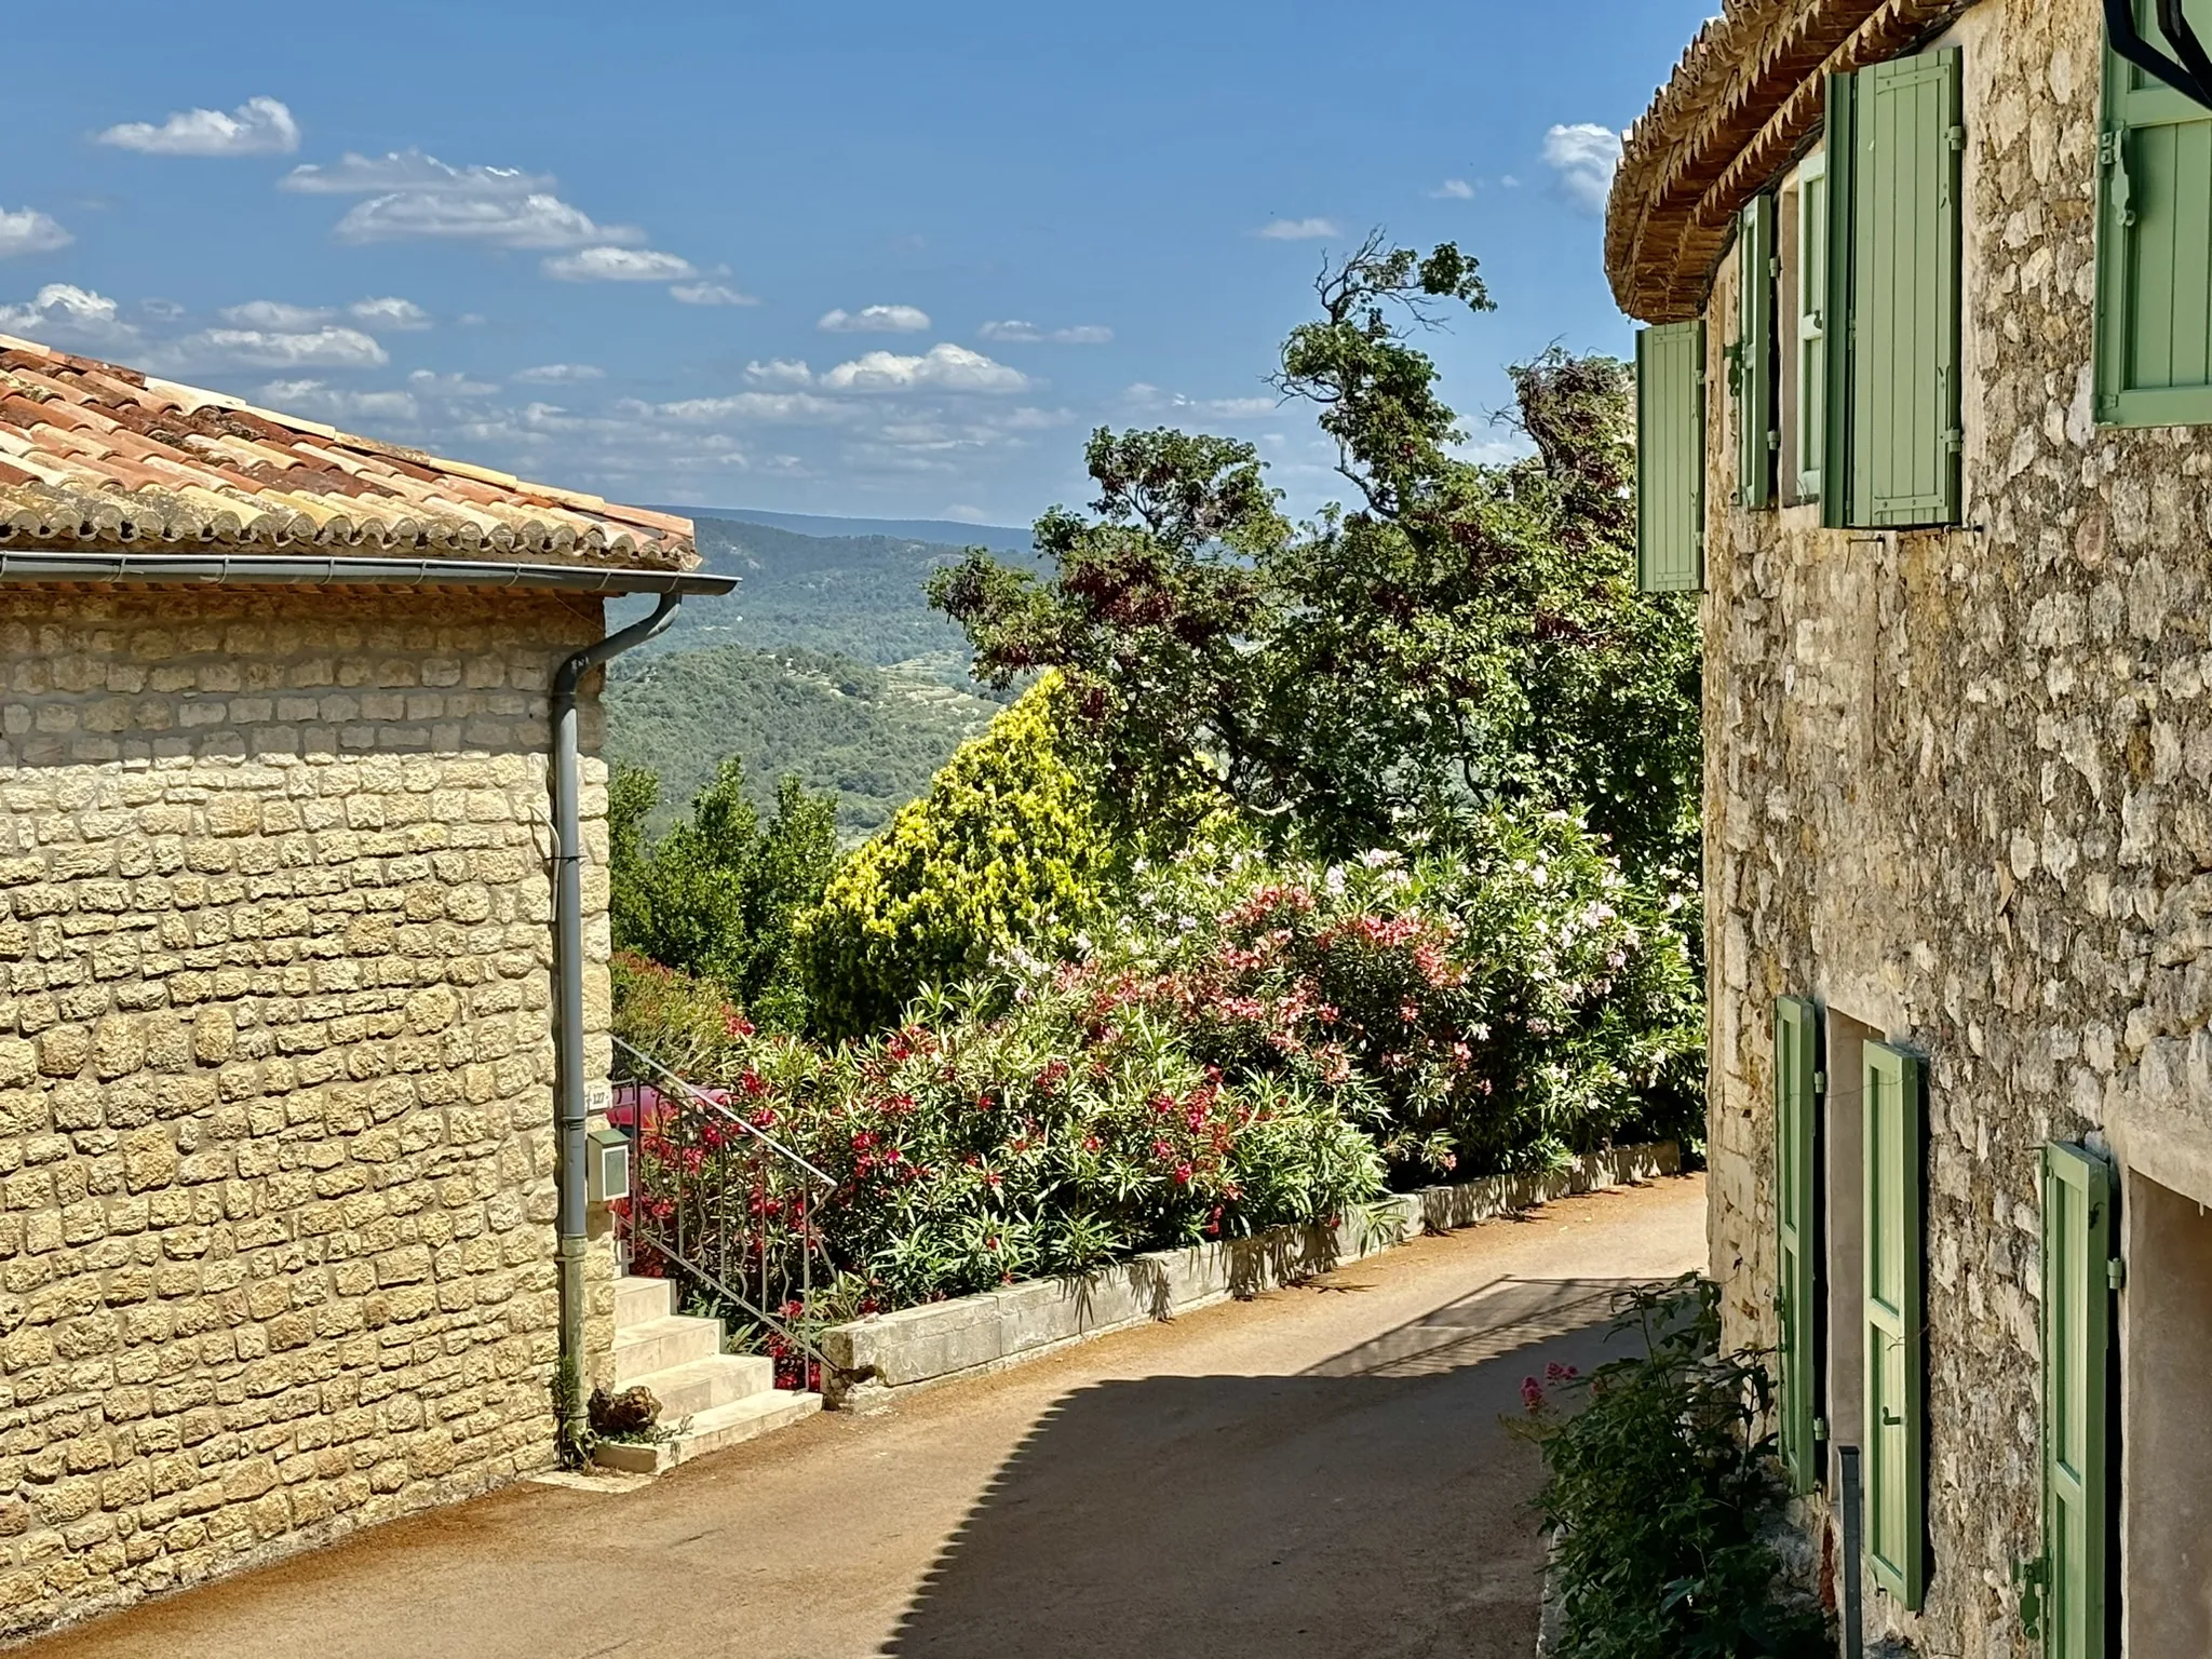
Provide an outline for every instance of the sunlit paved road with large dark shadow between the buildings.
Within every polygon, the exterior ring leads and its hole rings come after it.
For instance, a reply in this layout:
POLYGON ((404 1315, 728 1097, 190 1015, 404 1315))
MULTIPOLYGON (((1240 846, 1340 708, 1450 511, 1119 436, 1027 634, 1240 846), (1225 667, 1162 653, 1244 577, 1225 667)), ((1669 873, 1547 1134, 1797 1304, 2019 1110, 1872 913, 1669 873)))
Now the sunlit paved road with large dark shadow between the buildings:
POLYGON ((1571 1199, 637 1491, 522 1484, 33 1659, 1524 1659, 1548 1358, 1705 1261, 1703 1186, 1571 1199))

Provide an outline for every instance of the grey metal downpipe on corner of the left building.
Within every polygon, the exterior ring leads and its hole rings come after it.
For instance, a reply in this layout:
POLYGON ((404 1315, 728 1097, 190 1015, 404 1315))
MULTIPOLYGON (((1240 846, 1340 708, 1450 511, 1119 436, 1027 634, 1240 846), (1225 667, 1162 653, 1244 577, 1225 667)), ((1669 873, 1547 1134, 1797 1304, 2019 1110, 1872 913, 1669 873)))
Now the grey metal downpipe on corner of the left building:
POLYGON ((562 1444, 584 1429, 584 830, 577 781, 575 697, 599 664, 641 646, 670 622, 681 593, 664 593, 653 615, 568 657, 553 672, 553 1183, 560 1199, 560 1360, 575 1389, 560 1394, 562 1444))

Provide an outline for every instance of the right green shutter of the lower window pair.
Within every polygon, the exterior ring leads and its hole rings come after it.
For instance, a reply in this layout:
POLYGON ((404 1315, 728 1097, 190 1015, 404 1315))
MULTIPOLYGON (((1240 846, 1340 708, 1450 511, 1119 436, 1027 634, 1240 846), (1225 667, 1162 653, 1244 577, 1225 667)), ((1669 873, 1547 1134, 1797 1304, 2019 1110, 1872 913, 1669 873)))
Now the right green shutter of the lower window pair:
POLYGON ((1920 1062, 1869 1042, 1867 1166, 1867 1564, 1920 1610, 1927 1588, 1927 1325, 1920 1225, 1920 1062))

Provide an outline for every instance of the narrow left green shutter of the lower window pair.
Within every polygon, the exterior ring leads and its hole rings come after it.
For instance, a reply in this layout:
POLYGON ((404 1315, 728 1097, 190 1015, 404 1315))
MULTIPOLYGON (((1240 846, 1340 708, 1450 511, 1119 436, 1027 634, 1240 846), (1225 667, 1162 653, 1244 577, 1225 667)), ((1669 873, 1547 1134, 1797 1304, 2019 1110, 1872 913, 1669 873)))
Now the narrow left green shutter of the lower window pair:
POLYGON ((1814 1071, 1818 1060, 1818 1013, 1809 1002, 1781 998, 1774 1004, 1774 1219, 1776 1219, 1776 1310, 1781 1312, 1781 1451, 1790 1489, 1809 1493, 1820 1480, 1814 1433, 1818 1407, 1814 1256, 1820 1248, 1814 1219, 1814 1168, 1818 1164, 1818 1117, 1814 1071))

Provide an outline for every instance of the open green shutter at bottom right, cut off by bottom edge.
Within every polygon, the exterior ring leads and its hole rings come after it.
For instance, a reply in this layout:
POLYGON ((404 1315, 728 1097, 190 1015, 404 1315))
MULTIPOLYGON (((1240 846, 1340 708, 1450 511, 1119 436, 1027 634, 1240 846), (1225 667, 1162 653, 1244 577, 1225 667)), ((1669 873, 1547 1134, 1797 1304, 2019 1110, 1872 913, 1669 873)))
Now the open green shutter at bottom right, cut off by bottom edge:
POLYGON ((2044 1148, 2046 1659, 2104 1659, 2106 1365, 2112 1349, 2112 1168, 2044 1148))

